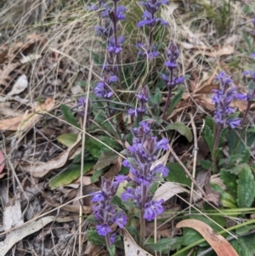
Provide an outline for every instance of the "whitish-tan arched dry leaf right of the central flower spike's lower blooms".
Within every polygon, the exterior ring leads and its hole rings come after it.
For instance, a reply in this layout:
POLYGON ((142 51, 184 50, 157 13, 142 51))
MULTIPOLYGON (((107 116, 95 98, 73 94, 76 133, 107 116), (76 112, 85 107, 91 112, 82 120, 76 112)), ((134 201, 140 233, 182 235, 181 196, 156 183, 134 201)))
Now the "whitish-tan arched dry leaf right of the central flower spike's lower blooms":
POLYGON ((156 190, 153 200, 164 199, 164 201, 167 201, 172 196, 183 192, 190 194, 190 191, 186 190, 182 185, 167 181, 156 190))

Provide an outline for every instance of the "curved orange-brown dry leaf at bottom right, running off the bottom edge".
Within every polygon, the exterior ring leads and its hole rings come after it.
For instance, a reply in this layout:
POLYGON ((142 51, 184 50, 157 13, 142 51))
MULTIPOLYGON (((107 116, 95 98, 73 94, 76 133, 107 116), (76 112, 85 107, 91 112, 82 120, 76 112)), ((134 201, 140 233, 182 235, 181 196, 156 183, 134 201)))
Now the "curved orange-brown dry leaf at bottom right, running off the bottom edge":
POLYGON ((235 249, 231 247, 223 236, 217 235, 209 225, 201 220, 184 219, 180 221, 176 227, 178 229, 188 227, 198 231, 201 236, 207 240, 218 256, 238 256, 235 249))

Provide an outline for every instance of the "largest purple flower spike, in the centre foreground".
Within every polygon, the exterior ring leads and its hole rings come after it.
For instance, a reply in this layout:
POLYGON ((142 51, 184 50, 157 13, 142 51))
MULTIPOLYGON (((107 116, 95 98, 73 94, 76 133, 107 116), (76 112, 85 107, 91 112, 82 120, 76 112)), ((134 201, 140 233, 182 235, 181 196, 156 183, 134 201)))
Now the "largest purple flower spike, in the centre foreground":
MULTIPOLYGON (((144 92, 144 90, 142 91, 144 92)), ((132 200, 138 208, 144 211, 144 219, 152 220, 161 214, 164 208, 161 206, 163 201, 151 200, 150 186, 159 181, 161 175, 166 177, 169 173, 168 168, 162 164, 158 164, 154 168, 152 165, 156 161, 159 151, 168 149, 168 140, 158 141, 155 136, 152 136, 150 121, 147 120, 139 122, 139 128, 133 128, 133 136, 133 145, 128 148, 128 157, 122 162, 123 166, 130 168, 132 175, 129 180, 126 180, 133 186, 128 186, 122 193, 122 200, 132 200)))

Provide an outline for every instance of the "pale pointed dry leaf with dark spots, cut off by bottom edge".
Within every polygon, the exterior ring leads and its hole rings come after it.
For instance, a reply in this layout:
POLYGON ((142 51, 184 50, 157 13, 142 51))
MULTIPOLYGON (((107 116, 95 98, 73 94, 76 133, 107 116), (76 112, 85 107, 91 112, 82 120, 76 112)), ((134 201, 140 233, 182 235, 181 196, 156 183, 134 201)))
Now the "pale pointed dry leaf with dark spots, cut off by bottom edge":
POLYGON ((123 237, 125 255, 152 256, 152 254, 146 252, 143 248, 139 247, 139 245, 133 240, 133 237, 127 232, 125 228, 123 229, 123 237))

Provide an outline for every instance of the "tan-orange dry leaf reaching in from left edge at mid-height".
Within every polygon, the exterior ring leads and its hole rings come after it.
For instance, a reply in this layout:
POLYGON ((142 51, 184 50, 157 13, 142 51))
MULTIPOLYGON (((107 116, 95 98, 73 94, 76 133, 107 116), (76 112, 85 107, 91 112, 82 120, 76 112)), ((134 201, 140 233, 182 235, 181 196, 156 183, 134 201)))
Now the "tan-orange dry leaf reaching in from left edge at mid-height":
POLYGON ((42 117, 43 111, 51 111, 54 108, 54 99, 48 98, 42 105, 32 110, 31 113, 25 113, 20 117, 13 117, 1 120, 0 130, 17 131, 31 128, 42 117))

